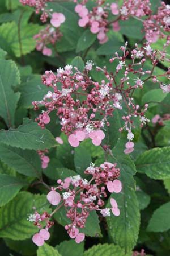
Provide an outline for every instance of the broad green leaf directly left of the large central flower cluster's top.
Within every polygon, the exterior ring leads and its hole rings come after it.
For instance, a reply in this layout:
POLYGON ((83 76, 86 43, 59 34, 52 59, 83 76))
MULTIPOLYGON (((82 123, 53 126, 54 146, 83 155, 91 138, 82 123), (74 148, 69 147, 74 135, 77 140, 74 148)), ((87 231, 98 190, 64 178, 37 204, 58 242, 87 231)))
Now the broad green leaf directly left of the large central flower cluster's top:
POLYGON ((42 84, 41 77, 35 76, 33 79, 24 82, 20 87, 21 93, 19 106, 22 108, 33 108, 32 101, 40 101, 49 88, 42 84))

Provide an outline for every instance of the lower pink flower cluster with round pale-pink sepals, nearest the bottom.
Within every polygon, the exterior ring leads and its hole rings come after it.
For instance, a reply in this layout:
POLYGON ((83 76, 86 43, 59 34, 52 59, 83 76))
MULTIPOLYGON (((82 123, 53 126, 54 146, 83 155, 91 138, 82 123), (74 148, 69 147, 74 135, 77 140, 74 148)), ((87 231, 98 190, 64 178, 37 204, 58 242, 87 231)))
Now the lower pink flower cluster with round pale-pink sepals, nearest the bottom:
POLYGON ((91 175, 90 181, 82 179, 80 175, 67 177, 65 180, 57 180, 58 186, 52 187, 47 195, 50 204, 57 208, 49 215, 44 212, 42 215, 35 212, 29 216, 28 220, 34 222, 34 225, 41 228, 41 222, 46 221, 45 229, 36 233, 32 240, 36 245, 41 246, 49 238, 48 228, 53 225, 49 219, 61 207, 65 207, 67 218, 71 224, 65 226, 70 238, 75 238, 76 243, 84 240, 84 233, 80 232, 81 228, 86 225, 86 220, 92 210, 100 212, 104 217, 111 216, 110 210, 115 216, 120 215, 120 210, 115 199, 111 199, 111 208, 104 208, 104 198, 107 197, 105 187, 111 193, 120 193, 122 190, 121 181, 117 178, 120 176, 120 170, 116 164, 104 162, 100 167, 95 167, 91 163, 85 171, 85 174, 91 175), (58 192, 57 192, 58 191, 58 192))

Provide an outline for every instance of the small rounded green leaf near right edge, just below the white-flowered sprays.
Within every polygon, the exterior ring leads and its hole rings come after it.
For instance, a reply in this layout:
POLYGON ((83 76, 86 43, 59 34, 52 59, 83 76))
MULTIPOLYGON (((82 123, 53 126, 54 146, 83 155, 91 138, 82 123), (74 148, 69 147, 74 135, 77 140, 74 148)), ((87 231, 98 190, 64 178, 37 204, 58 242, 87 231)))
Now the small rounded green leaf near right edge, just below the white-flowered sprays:
POLYGON ((166 96, 167 93, 163 93, 162 89, 149 90, 142 97, 142 105, 148 103, 148 108, 152 108, 153 106, 158 105, 157 102, 162 102, 166 96), (156 102, 150 103, 151 101, 156 102))

